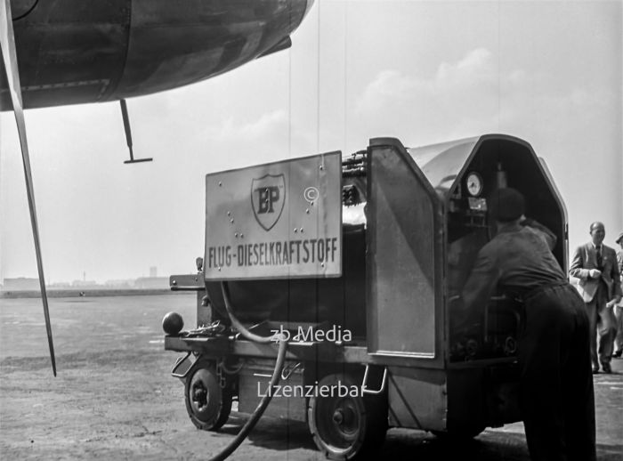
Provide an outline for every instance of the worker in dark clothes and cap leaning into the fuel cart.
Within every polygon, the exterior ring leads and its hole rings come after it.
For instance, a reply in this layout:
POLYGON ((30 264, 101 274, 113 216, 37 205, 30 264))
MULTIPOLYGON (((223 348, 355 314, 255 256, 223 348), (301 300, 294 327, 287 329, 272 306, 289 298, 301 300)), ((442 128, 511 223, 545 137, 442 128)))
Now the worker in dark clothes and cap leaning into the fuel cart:
POLYGON ((496 287, 522 301, 520 409, 533 460, 595 460, 590 331, 582 298, 551 252, 555 237, 525 220, 524 199, 500 189, 490 199, 498 233, 481 248, 459 315, 486 305, 496 287))

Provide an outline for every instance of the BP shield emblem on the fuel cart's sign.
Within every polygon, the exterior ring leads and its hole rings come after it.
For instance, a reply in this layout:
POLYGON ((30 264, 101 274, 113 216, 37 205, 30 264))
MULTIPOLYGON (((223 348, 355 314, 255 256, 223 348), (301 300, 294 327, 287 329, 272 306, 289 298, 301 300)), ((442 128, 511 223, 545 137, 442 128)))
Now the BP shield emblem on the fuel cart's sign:
POLYGON ((264 174, 251 182, 251 203, 255 220, 264 230, 271 230, 279 221, 286 203, 286 176, 264 174))

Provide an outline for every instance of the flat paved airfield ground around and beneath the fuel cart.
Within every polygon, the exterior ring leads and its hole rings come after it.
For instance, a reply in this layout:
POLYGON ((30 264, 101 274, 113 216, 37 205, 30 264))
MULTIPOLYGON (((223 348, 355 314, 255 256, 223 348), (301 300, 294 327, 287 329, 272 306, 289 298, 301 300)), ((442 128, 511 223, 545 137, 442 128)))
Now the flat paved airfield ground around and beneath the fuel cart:
MULTIPOLYGON (((192 294, 50 300, 59 375, 54 378, 40 301, 0 299, 2 459, 208 459, 238 433, 195 429, 182 384, 169 375, 178 354, 163 350, 161 320, 195 321, 192 294)), ((623 459, 623 360, 595 376, 598 459, 623 459)), ((391 429, 383 459, 530 459, 522 424, 457 444, 391 429)), ((321 460, 304 424, 263 418, 230 459, 321 460)))

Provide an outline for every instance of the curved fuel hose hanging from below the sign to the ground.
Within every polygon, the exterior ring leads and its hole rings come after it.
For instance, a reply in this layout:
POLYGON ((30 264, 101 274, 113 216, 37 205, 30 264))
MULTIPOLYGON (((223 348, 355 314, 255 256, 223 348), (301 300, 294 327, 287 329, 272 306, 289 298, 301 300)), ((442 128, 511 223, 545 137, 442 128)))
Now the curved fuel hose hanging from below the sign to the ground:
MULTIPOLYGON (((240 323, 239 319, 236 318, 231 309, 230 289, 227 286, 227 282, 221 282, 221 289, 223 291, 225 309, 227 310, 227 314, 230 316, 231 325, 240 332, 240 335, 244 336, 249 341, 254 341, 255 343, 269 344, 274 342, 273 336, 259 336, 247 330, 247 328, 245 328, 245 326, 240 323)), ((287 339, 283 335, 280 335, 277 361, 275 362, 275 369, 272 372, 270 382, 271 392, 266 392, 264 394, 262 400, 260 400, 259 405, 257 405, 257 408, 255 408, 255 411, 247 420, 247 423, 242 426, 242 429, 240 429, 240 432, 236 435, 236 437, 221 452, 219 452, 216 456, 210 458, 210 461, 223 461, 223 459, 229 457, 231 453, 233 453, 234 450, 239 447, 240 443, 242 443, 247 438, 247 435, 253 430, 255 424, 257 423, 257 421, 259 421, 260 417, 262 417, 264 410, 271 402, 275 386, 279 384, 279 379, 281 378, 281 370, 283 368, 284 362, 286 361, 286 350, 287 339)))

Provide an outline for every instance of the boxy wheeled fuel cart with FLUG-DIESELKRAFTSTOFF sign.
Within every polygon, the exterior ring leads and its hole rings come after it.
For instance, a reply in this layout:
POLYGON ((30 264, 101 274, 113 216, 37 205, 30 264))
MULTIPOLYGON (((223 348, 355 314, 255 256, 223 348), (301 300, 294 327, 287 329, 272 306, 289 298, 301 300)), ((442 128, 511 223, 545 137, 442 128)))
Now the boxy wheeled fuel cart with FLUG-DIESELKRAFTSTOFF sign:
POLYGON ((369 457, 392 427, 465 438, 519 421, 519 302, 495 293, 453 316, 503 187, 554 232, 567 271, 562 199, 516 137, 376 138, 207 174, 205 254, 170 279, 197 291, 196 328, 163 321, 190 421, 216 431, 237 402, 251 417, 236 443, 262 415, 287 418, 330 459, 369 457))

